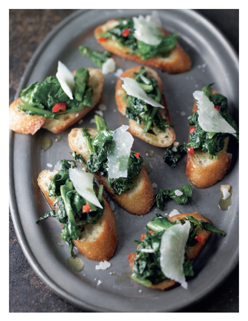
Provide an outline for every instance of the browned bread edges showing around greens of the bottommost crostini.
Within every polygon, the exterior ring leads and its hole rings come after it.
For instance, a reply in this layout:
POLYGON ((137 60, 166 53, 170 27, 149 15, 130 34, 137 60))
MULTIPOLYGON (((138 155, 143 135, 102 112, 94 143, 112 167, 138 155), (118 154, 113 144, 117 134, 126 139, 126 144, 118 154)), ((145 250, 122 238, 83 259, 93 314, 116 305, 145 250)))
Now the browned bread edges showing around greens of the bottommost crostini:
MULTIPOLYGON (((190 215, 193 216, 195 219, 197 220, 203 220, 204 222, 208 222, 210 224, 212 224, 212 222, 207 219, 205 216, 200 215, 196 212, 191 213, 191 214, 178 214, 178 215, 174 215, 172 217, 169 218, 169 220, 173 223, 175 223, 176 221, 179 221, 181 219, 185 220, 185 216, 186 215, 190 215)), ((200 253, 200 251, 203 249, 203 247, 205 246, 205 244, 207 243, 209 237, 211 236, 212 232, 210 231, 206 231, 206 230, 202 230, 200 227, 197 227, 198 229, 198 234, 202 233, 204 235, 204 239, 202 241, 202 243, 197 242, 194 246, 186 246, 185 249, 185 258, 186 259, 195 259, 198 254, 200 253)), ((153 231, 149 231, 150 233, 154 233, 153 231)), ((141 234, 141 241, 145 238, 145 234, 141 234)), ((134 264, 134 260, 135 260, 135 256, 136 253, 130 253, 128 254, 127 258, 131 267, 131 270, 133 270, 133 264, 134 264)), ((173 285, 177 284, 176 281, 171 280, 171 279, 166 279, 163 280, 162 282, 158 283, 158 284, 154 284, 151 285, 150 287, 153 289, 159 289, 159 290, 164 290, 167 289, 169 287, 172 287, 173 285)))

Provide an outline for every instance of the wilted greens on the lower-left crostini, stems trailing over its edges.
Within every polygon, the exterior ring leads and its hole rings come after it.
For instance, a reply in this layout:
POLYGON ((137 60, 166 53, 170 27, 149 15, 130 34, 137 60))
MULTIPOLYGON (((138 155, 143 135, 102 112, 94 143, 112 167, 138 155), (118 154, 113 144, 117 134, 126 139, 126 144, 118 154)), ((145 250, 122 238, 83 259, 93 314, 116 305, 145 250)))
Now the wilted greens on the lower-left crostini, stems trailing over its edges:
MULTIPOLYGON (((98 200, 103 207, 103 209, 101 209, 81 197, 74 189, 74 186, 69 179, 69 168, 74 167, 75 163, 73 161, 69 162, 66 161, 66 159, 61 161, 61 170, 54 175, 48 187, 48 196, 55 197, 53 209, 46 212, 36 221, 37 223, 48 217, 57 218, 57 220, 63 224, 61 237, 68 243, 72 257, 74 256, 74 245, 72 240, 80 239, 82 231, 84 231, 84 226, 88 223, 96 224, 104 211, 104 202, 102 201, 103 186, 100 185, 98 193, 98 200), (86 204, 90 205, 90 211, 83 213, 82 207, 86 204)), ((95 182, 94 190, 95 193, 97 193, 95 182)))

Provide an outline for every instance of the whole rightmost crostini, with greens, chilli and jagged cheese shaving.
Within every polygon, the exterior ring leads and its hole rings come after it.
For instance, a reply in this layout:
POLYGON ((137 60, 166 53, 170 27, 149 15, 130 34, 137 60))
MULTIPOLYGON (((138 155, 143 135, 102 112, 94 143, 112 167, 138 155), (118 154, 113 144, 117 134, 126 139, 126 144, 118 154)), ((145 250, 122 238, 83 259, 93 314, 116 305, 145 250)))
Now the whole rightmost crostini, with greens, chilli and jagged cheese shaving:
POLYGON ((212 84, 195 91, 190 134, 186 145, 186 175, 190 183, 205 189, 222 180, 231 164, 227 152, 229 135, 238 140, 238 127, 228 113, 227 98, 212 89, 212 84))

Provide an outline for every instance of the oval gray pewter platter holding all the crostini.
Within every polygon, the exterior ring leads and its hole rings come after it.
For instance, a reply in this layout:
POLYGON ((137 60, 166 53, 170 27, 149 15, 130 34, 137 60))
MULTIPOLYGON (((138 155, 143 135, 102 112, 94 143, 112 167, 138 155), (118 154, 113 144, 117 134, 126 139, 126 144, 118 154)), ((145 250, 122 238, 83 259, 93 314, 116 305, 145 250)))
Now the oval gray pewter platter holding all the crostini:
MULTIPOLYGON (((81 66, 95 67, 91 60, 78 52, 79 45, 103 50, 93 36, 96 26, 109 19, 150 14, 150 10, 91 10, 73 13, 60 23, 43 41, 31 59, 16 97, 22 88, 32 82, 43 81, 55 75, 57 61, 65 63, 70 70, 81 66)), ((159 10, 162 25, 171 33, 180 34, 180 44, 192 59, 192 69, 183 74, 169 75, 159 70, 172 122, 180 143, 188 139, 188 120, 193 106, 192 93, 214 82, 214 88, 228 98, 229 111, 238 120, 238 61, 235 52, 220 32, 205 18, 190 10, 159 10)), ((137 64, 114 56, 117 68, 126 70, 137 64)), ((127 124, 115 103, 114 74, 106 75, 102 98, 79 125, 73 127, 95 127, 91 122, 100 104, 107 110, 104 116, 110 129, 127 124)), ((221 183, 199 190, 192 188, 192 199, 187 205, 177 205, 169 201, 164 211, 153 205, 143 217, 133 216, 115 204, 115 219, 118 245, 110 259, 111 267, 96 270, 96 261, 76 255, 85 263, 81 272, 75 272, 66 262, 69 247, 60 239, 61 225, 53 218, 42 223, 35 221, 49 206, 37 185, 38 174, 53 170, 63 158, 70 157, 67 135, 71 128, 61 133, 62 139, 55 141, 56 134, 44 129, 34 136, 10 132, 10 203, 15 230, 25 256, 39 277, 59 296, 72 304, 102 312, 172 312, 195 303, 213 291, 234 269, 238 262, 238 147, 231 139, 232 164, 221 183), (50 137, 52 146, 43 151, 39 142, 42 137, 50 137), (220 185, 232 187, 231 207, 221 211, 218 201, 221 197, 220 185), (176 286, 170 290, 158 291, 146 288, 130 279, 127 255, 135 251, 134 239, 139 239, 145 225, 155 212, 170 213, 177 209, 180 213, 198 212, 212 220, 227 235, 223 238, 212 235, 206 247, 194 263, 195 276, 188 280, 188 290, 176 286), (110 272, 115 271, 115 275, 110 272), (98 280, 103 283, 98 284, 98 280)), ((172 169, 163 163, 163 148, 151 146, 134 138, 133 150, 139 151, 144 161, 150 162, 151 183, 156 183, 154 193, 159 188, 172 189, 187 184, 185 175, 186 157, 178 167, 172 169), (145 156, 146 150, 154 151, 154 157, 145 156)), ((145 197, 145 196, 144 196, 145 197)))

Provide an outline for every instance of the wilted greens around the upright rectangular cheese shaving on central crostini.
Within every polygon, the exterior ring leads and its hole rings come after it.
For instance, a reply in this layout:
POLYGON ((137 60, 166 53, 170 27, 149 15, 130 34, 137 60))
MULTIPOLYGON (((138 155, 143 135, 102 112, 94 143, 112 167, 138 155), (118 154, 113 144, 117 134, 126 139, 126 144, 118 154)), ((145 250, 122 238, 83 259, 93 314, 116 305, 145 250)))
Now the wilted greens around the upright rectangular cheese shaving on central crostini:
POLYGON ((131 151, 128 166, 127 166, 127 177, 120 177, 117 179, 110 179, 108 176, 108 165, 109 161, 107 158, 108 151, 111 147, 113 139, 113 130, 107 129, 107 124, 103 116, 95 116, 98 134, 91 138, 86 128, 82 128, 82 136, 84 136, 91 155, 85 163, 81 155, 72 152, 73 158, 83 164, 87 171, 90 173, 99 172, 101 176, 107 177, 108 185, 113 189, 115 195, 120 195, 123 192, 130 190, 133 186, 134 178, 139 174, 142 169, 143 159, 141 156, 135 156, 135 152, 131 151))

